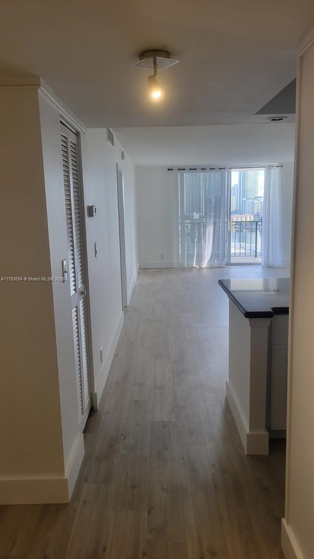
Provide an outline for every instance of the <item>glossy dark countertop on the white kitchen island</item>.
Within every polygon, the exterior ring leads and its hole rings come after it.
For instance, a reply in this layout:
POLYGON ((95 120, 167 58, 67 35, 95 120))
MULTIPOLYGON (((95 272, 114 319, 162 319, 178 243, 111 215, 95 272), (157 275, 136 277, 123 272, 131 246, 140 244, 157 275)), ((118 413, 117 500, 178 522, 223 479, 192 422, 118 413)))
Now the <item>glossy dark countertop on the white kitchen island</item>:
POLYGON ((290 278, 218 280, 245 318, 289 314, 290 278))

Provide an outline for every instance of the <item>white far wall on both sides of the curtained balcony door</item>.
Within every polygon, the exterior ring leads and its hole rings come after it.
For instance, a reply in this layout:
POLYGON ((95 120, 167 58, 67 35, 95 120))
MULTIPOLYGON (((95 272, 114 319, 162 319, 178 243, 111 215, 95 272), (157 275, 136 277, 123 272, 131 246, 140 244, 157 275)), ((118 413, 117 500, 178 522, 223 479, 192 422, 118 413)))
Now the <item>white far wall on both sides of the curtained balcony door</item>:
MULTIPOLYGON (((264 162, 264 164, 267 162, 264 162)), ((137 231, 141 268, 178 265, 178 179, 166 167, 136 167, 137 231), (164 258, 161 258, 161 254, 164 258)), ((293 163, 282 167, 283 264, 291 252, 293 163)))

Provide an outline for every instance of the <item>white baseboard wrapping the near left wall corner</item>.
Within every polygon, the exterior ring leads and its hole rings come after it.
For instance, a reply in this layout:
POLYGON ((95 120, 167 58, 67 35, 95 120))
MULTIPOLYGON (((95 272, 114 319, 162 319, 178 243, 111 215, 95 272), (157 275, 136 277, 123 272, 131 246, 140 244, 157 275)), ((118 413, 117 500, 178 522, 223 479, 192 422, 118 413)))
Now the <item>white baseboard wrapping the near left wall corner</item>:
POLYGON ((84 456, 84 437, 78 435, 64 477, 0 479, 1 505, 69 503, 84 456))

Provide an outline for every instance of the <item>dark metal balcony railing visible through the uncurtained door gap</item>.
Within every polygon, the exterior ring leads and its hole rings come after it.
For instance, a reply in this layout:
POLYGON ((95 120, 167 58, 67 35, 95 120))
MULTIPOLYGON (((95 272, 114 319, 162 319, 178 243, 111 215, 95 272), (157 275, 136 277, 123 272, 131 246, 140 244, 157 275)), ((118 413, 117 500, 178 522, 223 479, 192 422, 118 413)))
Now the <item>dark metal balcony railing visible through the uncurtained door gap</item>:
POLYGON ((261 257, 261 220, 231 220, 231 259, 261 257))

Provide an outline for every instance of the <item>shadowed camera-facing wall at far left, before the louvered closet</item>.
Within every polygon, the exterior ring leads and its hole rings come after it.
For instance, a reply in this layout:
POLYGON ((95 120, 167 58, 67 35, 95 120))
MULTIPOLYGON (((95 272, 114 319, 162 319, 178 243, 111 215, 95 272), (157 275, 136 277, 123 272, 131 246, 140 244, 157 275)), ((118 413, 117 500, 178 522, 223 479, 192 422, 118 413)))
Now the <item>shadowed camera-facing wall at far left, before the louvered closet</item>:
MULTIPOLYGON (((37 89, 1 87, 0 118, 0 276, 49 277, 37 89)), ((44 484, 64 498, 53 285, 2 281, 0 296, 0 502, 36 503, 44 484)))

